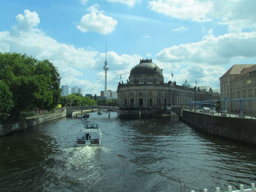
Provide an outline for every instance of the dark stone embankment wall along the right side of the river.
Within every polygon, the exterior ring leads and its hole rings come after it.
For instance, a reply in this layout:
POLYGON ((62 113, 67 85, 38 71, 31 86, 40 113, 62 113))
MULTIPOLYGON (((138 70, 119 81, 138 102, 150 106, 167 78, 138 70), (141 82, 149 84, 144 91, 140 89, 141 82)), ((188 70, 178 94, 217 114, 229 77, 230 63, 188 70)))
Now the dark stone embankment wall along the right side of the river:
POLYGON ((212 116, 184 110, 183 116, 180 116, 180 110, 174 112, 178 114, 180 119, 214 135, 256 144, 255 119, 212 116))

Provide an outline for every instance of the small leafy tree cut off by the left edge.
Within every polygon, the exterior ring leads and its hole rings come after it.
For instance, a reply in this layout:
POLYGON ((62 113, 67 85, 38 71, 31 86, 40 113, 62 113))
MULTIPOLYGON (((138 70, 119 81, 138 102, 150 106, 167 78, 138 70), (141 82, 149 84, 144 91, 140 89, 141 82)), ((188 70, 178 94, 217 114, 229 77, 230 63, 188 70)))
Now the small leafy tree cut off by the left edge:
POLYGON ((0 119, 6 119, 10 116, 12 108, 12 93, 8 85, 6 85, 3 80, 0 80, 0 119))

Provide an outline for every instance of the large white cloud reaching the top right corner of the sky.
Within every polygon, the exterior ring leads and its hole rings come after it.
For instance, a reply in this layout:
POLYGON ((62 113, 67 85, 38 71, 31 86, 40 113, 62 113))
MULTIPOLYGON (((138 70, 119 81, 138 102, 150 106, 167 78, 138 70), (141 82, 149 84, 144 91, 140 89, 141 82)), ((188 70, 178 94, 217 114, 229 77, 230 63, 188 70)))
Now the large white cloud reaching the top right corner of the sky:
POLYGON ((148 7, 158 13, 196 22, 215 21, 227 25, 229 31, 256 28, 256 1, 154 0, 148 7))

